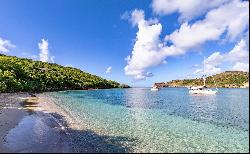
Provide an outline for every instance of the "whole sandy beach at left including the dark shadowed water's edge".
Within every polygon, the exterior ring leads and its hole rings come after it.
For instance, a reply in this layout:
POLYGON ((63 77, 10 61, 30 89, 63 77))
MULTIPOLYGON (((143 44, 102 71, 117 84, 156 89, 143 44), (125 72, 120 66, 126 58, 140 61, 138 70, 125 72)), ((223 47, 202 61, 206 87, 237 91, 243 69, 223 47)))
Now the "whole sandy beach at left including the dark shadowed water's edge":
POLYGON ((89 130, 46 93, 35 96, 0 94, 0 153, 132 152, 134 140, 89 130))

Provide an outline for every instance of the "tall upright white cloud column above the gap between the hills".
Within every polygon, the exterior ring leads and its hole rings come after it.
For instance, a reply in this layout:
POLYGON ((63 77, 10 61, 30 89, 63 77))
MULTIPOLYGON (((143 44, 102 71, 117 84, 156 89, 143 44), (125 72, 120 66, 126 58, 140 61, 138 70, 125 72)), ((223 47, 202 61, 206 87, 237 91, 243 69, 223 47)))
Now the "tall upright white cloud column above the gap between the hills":
POLYGON ((144 19, 142 10, 134 10, 131 14, 132 24, 138 26, 136 42, 133 47, 132 55, 126 58, 127 66, 124 68, 125 74, 133 76, 136 80, 144 80, 151 77, 151 72, 145 71, 147 68, 166 63, 164 45, 159 39, 162 25, 155 20, 144 19))

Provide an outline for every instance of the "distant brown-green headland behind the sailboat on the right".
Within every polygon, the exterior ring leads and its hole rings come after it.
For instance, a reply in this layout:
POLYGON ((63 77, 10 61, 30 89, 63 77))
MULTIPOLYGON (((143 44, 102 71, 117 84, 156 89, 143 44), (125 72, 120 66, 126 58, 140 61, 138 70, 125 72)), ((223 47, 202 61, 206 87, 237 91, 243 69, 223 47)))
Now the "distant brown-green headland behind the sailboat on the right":
MULTIPOLYGON (((189 87, 203 85, 202 78, 172 80, 155 83, 158 87, 189 87)), ((249 87, 249 72, 226 71, 206 78, 206 86, 213 88, 247 88, 249 87), (215 81, 215 82, 214 82, 215 81), (216 85, 215 85, 216 84, 216 85)))

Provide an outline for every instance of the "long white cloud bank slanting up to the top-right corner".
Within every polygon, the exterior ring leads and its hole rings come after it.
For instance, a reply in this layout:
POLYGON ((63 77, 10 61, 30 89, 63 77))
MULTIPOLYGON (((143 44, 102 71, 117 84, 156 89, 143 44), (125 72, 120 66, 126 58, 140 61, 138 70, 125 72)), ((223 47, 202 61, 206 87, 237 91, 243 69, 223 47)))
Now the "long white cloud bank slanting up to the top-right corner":
POLYGON ((188 50, 211 40, 219 40, 223 33, 227 33, 230 40, 241 35, 249 26, 248 2, 231 1, 206 14, 205 19, 189 25, 183 23, 166 41, 188 50))

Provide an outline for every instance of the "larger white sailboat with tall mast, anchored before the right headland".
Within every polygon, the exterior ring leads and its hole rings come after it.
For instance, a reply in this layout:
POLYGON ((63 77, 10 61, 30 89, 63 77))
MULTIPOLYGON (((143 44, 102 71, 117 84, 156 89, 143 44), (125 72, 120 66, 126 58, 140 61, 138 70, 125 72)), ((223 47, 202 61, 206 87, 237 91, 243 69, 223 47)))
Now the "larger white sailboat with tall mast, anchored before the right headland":
MULTIPOLYGON (((204 62, 203 62, 203 74, 205 74, 205 57, 204 57, 204 62)), ((189 88, 190 94, 216 94, 218 92, 217 87, 216 87, 216 90, 212 90, 206 87, 205 75, 203 75, 202 79, 203 79, 203 86, 190 87, 189 88)))

